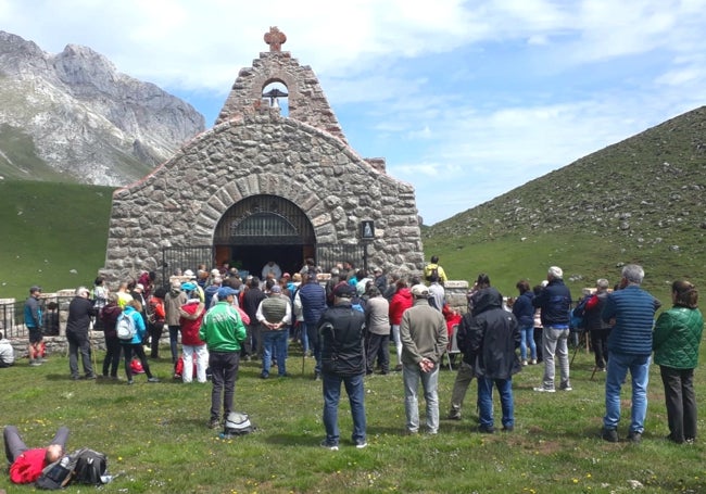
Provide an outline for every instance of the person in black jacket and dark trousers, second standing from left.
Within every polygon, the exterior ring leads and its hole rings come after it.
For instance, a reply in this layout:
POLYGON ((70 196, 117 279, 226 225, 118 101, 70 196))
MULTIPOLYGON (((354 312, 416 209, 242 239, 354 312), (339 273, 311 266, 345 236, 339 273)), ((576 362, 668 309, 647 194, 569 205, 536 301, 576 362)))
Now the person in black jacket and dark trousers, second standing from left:
POLYGON ((96 372, 91 366, 91 346, 88 337, 88 328, 91 317, 96 315, 96 308, 93 303, 88 300, 88 295, 89 291, 86 287, 78 287, 76 296, 68 304, 66 340, 68 340, 68 369, 74 380, 80 379, 78 373, 79 350, 86 379, 96 379, 96 372))

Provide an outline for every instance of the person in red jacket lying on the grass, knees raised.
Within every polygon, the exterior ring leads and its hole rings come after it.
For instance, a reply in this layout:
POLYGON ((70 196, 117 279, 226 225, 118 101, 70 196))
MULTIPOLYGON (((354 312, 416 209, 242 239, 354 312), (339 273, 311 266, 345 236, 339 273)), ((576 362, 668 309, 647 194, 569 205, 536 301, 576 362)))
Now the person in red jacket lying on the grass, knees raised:
POLYGON ((29 449, 20 431, 14 426, 7 426, 3 431, 5 455, 10 463, 10 480, 16 484, 29 484, 41 474, 41 470, 64 455, 68 429, 60 427, 56 435, 47 447, 29 449))

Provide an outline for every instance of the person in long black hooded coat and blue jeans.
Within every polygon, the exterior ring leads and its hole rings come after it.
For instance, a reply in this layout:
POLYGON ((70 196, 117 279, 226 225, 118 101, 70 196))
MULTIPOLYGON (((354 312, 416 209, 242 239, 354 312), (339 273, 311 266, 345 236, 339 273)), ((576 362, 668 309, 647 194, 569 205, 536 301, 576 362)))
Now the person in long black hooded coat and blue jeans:
POLYGON ((515 353, 519 342, 517 319, 503 309, 500 292, 492 287, 480 291, 468 329, 468 346, 477 355, 475 371, 478 379, 479 432, 495 432, 493 385, 500 393, 503 430, 512 431, 515 428, 513 375, 521 368, 515 353))

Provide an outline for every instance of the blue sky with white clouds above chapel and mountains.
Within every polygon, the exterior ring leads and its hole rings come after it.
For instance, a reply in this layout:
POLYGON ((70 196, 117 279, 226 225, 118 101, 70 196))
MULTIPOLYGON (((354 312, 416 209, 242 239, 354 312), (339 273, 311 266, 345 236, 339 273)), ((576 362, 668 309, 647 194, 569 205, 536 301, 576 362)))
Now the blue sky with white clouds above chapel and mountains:
POLYGON ((207 127, 269 26, 428 225, 706 103, 706 0, 0 0, 0 29, 90 47, 207 127))

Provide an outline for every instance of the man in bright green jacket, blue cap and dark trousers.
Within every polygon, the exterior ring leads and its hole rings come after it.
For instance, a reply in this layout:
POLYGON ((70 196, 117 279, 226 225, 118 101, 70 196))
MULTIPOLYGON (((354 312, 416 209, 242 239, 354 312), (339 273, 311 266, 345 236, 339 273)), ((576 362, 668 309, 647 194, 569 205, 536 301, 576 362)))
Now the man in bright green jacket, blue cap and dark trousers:
POLYGON ((209 367, 213 390, 211 392, 211 420, 209 427, 220 425, 220 395, 223 394, 224 418, 234 411, 236 378, 240 364, 240 345, 245 340, 245 326, 232 305, 236 292, 230 287, 218 289, 218 303, 211 307, 201 322, 199 338, 209 349, 209 367))

